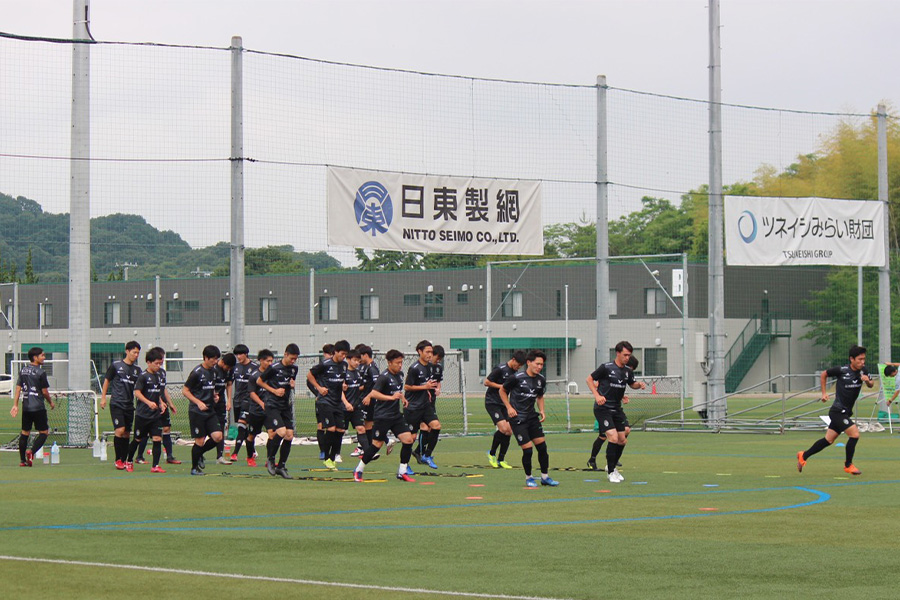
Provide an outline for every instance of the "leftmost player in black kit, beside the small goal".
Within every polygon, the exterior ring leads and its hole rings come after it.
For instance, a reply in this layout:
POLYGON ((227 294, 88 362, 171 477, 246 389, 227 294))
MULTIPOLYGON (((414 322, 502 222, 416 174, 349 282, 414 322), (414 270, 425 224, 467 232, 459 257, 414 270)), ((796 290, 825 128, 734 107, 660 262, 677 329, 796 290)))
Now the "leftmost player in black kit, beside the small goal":
POLYGON ((22 434, 19 436, 19 466, 30 467, 34 463, 34 455, 41 449, 47 436, 50 434, 50 424, 47 420, 47 409, 44 402, 50 404, 50 410, 56 408, 56 403, 50 396, 50 382, 41 365, 47 356, 44 350, 35 346, 28 351, 29 364, 19 371, 19 379, 16 381, 16 390, 13 393, 13 406, 9 414, 15 419, 19 414, 19 396, 22 396, 22 434), (24 395, 23 395, 24 392, 24 395), (31 450, 28 450, 28 436, 31 428, 38 430, 31 450))

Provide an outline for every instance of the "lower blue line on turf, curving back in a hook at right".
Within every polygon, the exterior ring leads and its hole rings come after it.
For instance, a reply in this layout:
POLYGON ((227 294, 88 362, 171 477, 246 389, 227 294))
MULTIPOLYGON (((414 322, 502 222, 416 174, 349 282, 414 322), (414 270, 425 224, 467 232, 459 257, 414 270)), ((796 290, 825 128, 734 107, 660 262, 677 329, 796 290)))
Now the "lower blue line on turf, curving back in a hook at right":
MULTIPOLYGON (((772 488, 769 488, 772 489, 772 488)), ((782 510, 791 510, 795 508, 803 508, 806 506, 813 506, 816 504, 822 504, 831 499, 831 495, 826 492, 822 492, 819 490, 804 488, 804 487, 791 487, 791 488, 782 488, 782 489, 793 489, 799 490, 803 492, 808 492, 813 494, 815 498, 810 500, 809 502, 801 502, 800 504, 790 504, 787 506, 773 506, 770 508, 751 508, 746 510, 734 510, 734 511, 726 511, 726 512, 705 512, 705 513, 689 513, 683 515, 660 515, 655 517, 618 517, 612 519, 579 519, 574 521, 520 521, 520 522, 508 522, 508 523, 446 523, 446 524, 420 524, 420 525, 300 525, 300 526, 264 526, 264 527, 116 527, 115 531, 165 531, 165 532, 199 532, 199 531, 216 531, 216 532, 237 532, 237 531, 360 531, 360 530, 377 530, 377 531, 386 531, 392 529, 406 530, 406 529, 478 529, 482 527, 545 527, 545 526, 553 526, 553 525, 589 525, 589 524, 602 524, 602 523, 634 523, 641 521, 665 521, 671 519, 695 519, 695 518, 713 518, 713 517, 724 517, 724 516, 733 516, 733 515, 749 515, 749 514, 757 514, 757 513, 767 513, 767 512, 777 512, 782 510)), ((735 490, 738 491, 738 490, 735 490)), ((740 491, 759 491, 759 490, 740 490, 740 491)), ((668 495, 668 494, 666 494, 668 495)), ((679 494, 672 494, 679 495, 679 494)), ((646 496, 644 496, 646 497, 646 496)), ((624 498, 623 496, 618 496, 618 498, 624 498)), ((502 503, 498 503, 502 504, 502 503)), ((461 505, 466 506, 466 505, 461 505)), ((483 505, 478 505, 483 506, 483 505)), ((324 513, 316 513, 316 514, 324 514, 324 513)), ((50 527, 51 529, 53 527, 50 527)), ((103 527, 84 527, 84 526, 63 526, 58 527, 57 529, 69 529, 69 530, 87 530, 87 531, 96 531, 103 530, 103 527)), ((39 527, 37 529, 43 529, 43 527, 39 527)))

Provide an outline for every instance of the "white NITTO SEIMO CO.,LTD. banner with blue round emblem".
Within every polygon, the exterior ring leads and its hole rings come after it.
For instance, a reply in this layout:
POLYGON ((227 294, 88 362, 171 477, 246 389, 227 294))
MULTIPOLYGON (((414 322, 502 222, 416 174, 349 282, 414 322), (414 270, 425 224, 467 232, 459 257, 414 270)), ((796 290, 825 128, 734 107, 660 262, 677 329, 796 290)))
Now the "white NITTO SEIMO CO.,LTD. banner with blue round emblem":
POLYGON ((329 167, 328 243, 404 252, 541 255, 541 185, 329 167))

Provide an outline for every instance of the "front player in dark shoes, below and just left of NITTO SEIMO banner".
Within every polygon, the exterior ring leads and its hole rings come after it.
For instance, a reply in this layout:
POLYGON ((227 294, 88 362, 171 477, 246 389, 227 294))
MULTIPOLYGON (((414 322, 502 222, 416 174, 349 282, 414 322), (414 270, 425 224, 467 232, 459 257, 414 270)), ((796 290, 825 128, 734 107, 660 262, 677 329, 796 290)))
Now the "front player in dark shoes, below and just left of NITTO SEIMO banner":
POLYGON ((300 347, 297 344, 288 344, 281 360, 266 369, 256 380, 257 385, 267 392, 264 400, 266 429, 269 432, 269 441, 266 444, 266 470, 269 475, 280 475, 285 479, 291 479, 286 465, 291 454, 291 442, 294 439, 292 392, 297 380, 296 362, 299 356, 300 347), (275 457, 279 448, 281 455, 276 463, 275 457))

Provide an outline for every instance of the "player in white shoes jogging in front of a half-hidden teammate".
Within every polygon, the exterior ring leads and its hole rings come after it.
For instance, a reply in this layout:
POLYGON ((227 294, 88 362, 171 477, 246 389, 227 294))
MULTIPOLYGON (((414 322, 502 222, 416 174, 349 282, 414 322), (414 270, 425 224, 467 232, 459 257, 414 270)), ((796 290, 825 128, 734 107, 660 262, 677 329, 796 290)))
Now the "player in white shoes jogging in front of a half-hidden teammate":
MULTIPOLYGON (((629 427, 628 418, 622 409, 625 386, 635 390, 647 387, 643 381, 636 382, 634 371, 628 368, 633 352, 634 347, 629 342, 619 342, 616 344, 615 360, 600 365, 587 377, 588 389, 594 395, 594 418, 600 424, 600 433, 609 442, 606 445, 606 473, 610 483, 625 481, 616 468, 628 441, 625 436, 625 430, 629 427)), ((596 461, 593 466, 588 462, 588 466, 595 468, 596 461)))

